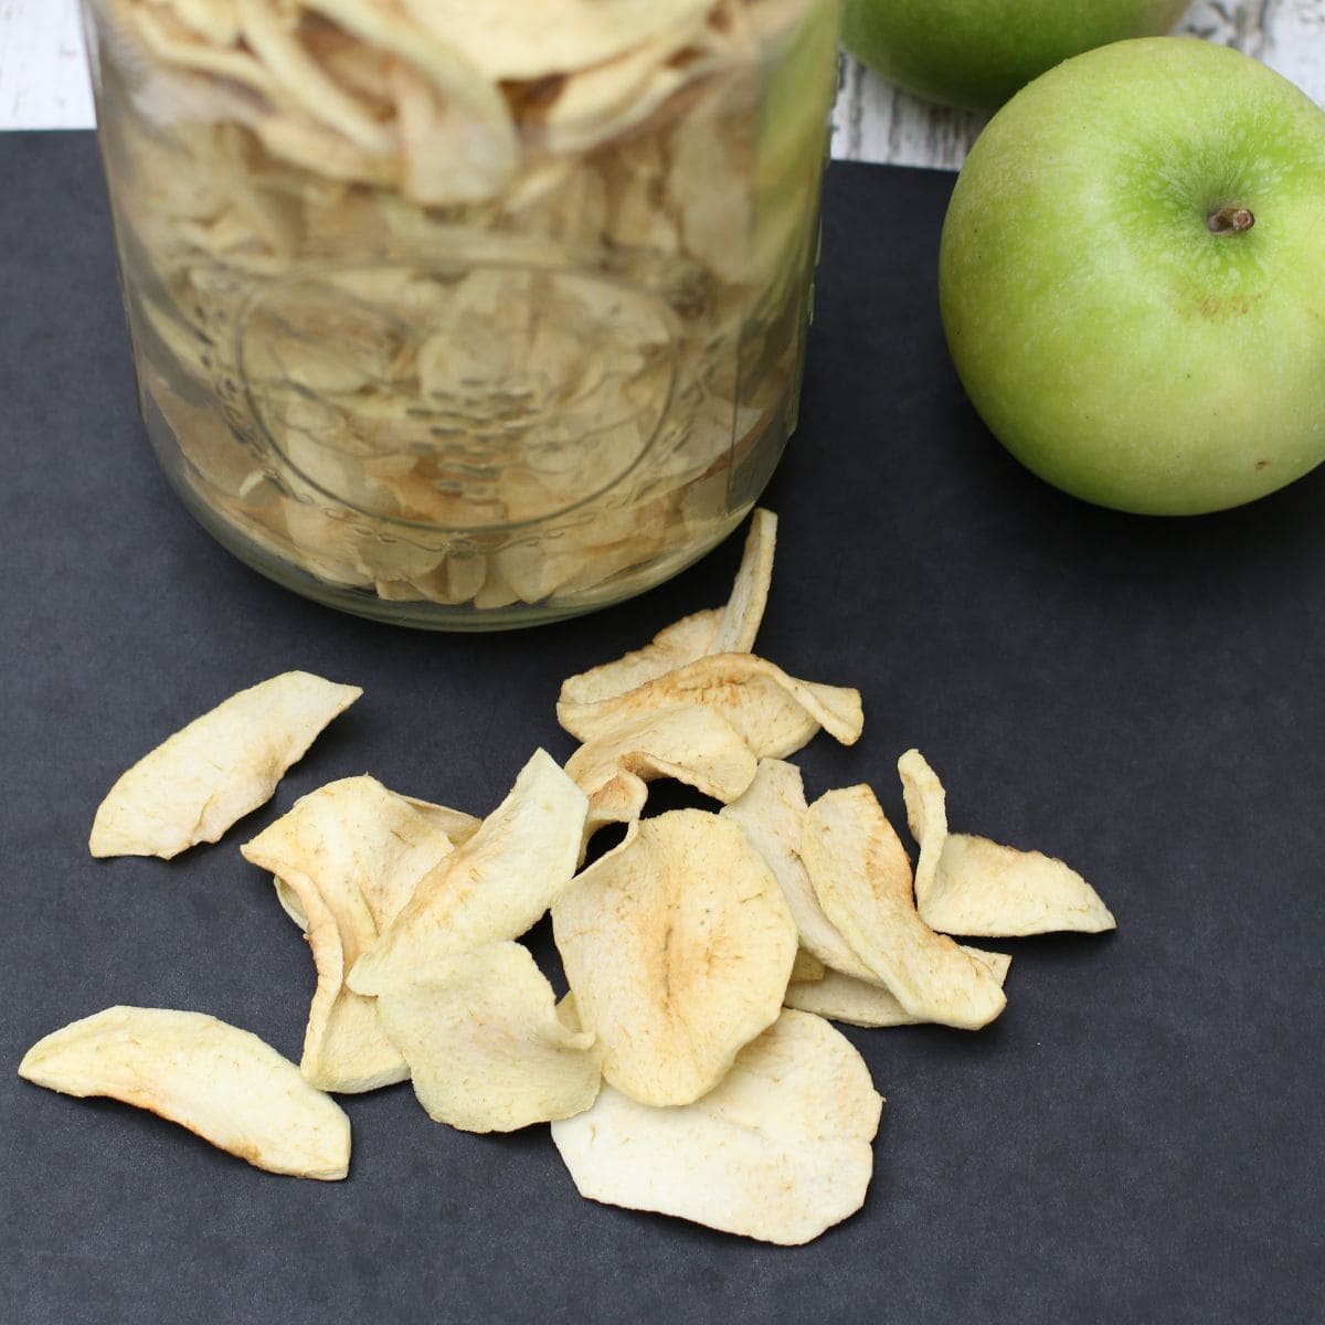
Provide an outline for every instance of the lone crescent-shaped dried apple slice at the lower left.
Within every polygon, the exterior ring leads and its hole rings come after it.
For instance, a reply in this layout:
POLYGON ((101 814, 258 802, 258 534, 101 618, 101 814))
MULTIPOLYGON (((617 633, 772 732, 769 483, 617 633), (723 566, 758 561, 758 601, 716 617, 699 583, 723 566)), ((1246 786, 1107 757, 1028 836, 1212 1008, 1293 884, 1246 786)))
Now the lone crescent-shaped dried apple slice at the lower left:
POLYGON ((350 1120, 249 1031, 203 1012, 109 1007, 38 1040, 19 1076, 148 1109, 258 1169, 350 1171, 350 1120))

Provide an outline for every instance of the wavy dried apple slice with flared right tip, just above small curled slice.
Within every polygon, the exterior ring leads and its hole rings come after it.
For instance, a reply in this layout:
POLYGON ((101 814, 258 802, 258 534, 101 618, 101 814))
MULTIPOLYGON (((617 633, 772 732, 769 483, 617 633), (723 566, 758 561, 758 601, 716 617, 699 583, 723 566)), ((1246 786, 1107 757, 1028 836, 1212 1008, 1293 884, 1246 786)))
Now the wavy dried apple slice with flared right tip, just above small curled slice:
POLYGON ((860 692, 798 681, 753 653, 712 653, 608 700, 560 700, 556 719, 579 741, 610 735, 643 713, 700 704, 721 713, 759 758, 780 759, 825 730, 855 745, 864 727, 860 692))

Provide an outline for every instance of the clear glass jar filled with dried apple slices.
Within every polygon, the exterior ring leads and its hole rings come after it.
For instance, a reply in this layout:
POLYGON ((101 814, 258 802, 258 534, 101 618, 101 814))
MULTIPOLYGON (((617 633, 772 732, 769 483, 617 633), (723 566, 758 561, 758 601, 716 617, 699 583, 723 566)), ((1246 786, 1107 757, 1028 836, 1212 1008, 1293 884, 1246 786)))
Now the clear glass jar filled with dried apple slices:
POLYGON ((83 0, 156 454, 447 629, 725 538, 795 427, 836 0, 83 0))

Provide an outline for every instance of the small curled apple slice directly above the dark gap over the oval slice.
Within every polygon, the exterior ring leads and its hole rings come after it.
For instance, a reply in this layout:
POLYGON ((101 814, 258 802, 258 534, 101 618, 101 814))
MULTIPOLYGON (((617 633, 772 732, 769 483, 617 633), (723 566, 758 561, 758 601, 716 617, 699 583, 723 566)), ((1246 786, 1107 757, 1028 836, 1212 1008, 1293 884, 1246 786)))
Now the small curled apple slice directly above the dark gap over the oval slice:
POLYGON ((678 704, 623 719, 582 745, 566 772, 588 796, 588 827, 637 819, 643 783, 673 778, 714 800, 729 802, 750 786, 757 761, 721 713, 678 704))

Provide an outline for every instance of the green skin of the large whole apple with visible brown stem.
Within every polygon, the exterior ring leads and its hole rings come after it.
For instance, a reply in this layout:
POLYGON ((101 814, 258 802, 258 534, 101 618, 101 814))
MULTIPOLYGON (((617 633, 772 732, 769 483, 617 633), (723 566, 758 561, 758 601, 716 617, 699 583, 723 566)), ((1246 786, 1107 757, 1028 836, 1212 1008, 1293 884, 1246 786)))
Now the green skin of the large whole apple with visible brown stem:
POLYGON ((939 244, 977 412, 1086 501, 1198 514, 1325 460, 1325 111, 1249 56, 1121 41, 1018 93, 939 244), (1247 208, 1248 229, 1208 217, 1247 208))

